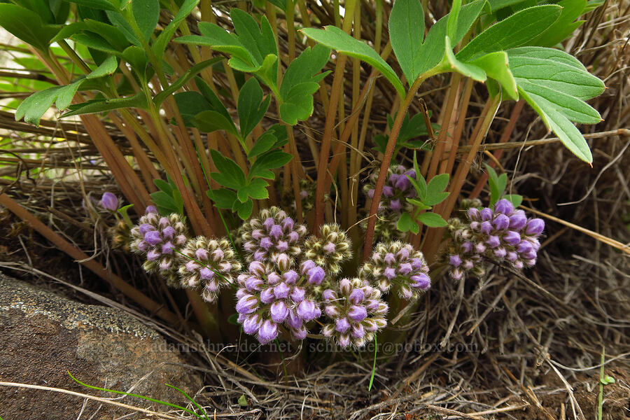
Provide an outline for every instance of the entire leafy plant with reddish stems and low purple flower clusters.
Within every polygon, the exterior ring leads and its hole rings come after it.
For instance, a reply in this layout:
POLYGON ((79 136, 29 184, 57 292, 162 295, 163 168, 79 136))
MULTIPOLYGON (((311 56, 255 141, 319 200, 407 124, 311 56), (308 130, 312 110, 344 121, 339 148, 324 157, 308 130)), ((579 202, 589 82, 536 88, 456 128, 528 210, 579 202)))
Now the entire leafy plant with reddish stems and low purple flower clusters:
POLYGON ((115 243, 185 288, 209 337, 232 328, 207 307, 221 302, 262 344, 361 348, 434 267, 455 281, 488 262, 531 267, 544 223, 505 195, 507 174, 486 165, 488 207, 458 205, 500 106, 526 102, 592 162, 574 123, 601 121, 587 101, 605 86, 561 44, 585 0, 454 0, 449 13, 395 0, 387 33, 367 42, 360 1, 329 19, 293 1, 18 3, 0 3, 0 26, 56 85, 15 119, 78 116, 134 206, 98 192, 115 243), (418 94, 441 89, 429 78, 446 87, 430 111, 418 94), (471 116, 472 92, 485 103, 471 116))

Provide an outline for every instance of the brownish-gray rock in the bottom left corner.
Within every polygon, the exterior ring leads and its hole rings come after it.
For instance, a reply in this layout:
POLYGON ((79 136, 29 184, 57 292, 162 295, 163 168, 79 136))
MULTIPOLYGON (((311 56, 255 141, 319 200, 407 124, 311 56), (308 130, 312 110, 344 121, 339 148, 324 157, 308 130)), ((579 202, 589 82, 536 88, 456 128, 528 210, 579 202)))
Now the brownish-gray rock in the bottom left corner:
MULTIPOLYGON (((200 376, 185 363, 158 332, 125 311, 74 302, 0 273, 0 381, 120 397, 80 386, 71 372, 86 384, 119 391, 137 385, 132 393, 186 406, 182 395, 165 386, 178 386, 189 395, 202 387, 200 376)), ((169 409, 129 396, 119 401, 169 409)), ((76 419, 83 403, 83 398, 63 393, 0 386, 3 420, 76 419)), ((87 401, 80 418, 124 414, 129 411, 87 401)))

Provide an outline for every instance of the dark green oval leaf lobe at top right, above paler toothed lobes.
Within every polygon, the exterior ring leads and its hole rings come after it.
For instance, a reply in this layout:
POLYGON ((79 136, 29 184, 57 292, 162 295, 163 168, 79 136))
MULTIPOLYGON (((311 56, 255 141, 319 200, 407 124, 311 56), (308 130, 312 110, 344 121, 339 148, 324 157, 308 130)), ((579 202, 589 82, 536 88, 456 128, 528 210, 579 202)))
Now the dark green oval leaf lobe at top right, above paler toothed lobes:
POLYGON ((489 52, 527 45, 558 19, 561 9, 549 4, 520 10, 475 36, 457 53, 457 59, 468 62, 489 52))

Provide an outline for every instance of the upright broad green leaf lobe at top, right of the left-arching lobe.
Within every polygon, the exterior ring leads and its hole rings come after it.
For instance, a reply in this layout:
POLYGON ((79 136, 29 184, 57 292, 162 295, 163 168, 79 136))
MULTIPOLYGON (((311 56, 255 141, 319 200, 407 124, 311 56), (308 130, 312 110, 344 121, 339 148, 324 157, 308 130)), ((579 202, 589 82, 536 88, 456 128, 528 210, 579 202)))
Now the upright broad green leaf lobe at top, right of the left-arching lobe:
POLYGON ((402 73, 411 85, 420 74, 417 54, 424 39, 424 11, 420 0, 396 0, 389 15, 389 40, 402 73))

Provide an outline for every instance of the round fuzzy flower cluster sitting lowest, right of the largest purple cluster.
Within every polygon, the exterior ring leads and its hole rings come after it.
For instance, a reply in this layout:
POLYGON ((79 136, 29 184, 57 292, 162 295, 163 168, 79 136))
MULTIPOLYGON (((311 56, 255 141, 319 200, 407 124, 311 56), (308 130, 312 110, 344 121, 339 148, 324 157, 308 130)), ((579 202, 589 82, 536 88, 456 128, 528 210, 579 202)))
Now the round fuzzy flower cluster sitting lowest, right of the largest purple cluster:
POLYGON ((324 314, 330 322, 321 329, 324 337, 339 346, 363 347, 374 339, 374 333, 387 325, 387 304, 377 288, 361 279, 342 279, 335 290, 322 294, 324 314))

